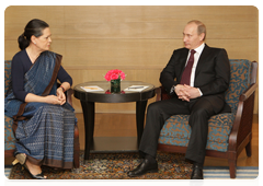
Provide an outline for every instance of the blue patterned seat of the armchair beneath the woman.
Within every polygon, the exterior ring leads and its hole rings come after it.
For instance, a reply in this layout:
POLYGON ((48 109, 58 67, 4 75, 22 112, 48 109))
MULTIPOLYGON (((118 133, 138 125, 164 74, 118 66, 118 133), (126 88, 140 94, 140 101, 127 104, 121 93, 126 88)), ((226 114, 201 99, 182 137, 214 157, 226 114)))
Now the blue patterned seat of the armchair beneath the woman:
POLYGON ((13 119, 4 115, 4 150, 15 149, 15 139, 12 130, 13 119))

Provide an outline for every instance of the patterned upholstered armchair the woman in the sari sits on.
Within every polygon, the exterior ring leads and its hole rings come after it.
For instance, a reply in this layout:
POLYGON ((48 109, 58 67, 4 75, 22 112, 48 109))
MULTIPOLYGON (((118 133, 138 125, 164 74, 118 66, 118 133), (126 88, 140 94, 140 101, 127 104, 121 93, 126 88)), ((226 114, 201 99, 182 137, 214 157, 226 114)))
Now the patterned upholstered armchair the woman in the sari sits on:
MULTIPOLYGON (((11 60, 4 60, 4 97, 10 86, 11 81, 11 60)), ((73 93, 73 90, 68 90, 66 92, 67 102, 72 105, 71 95, 73 93)), ((13 125, 13 118, 10 118, 4 115, 4 156, 13 156, 14 149, 15 149, 15 138, 13 136, 12 131, 12 125, 13 125)), ((73 164, 75 167, 79 167, 79 130, 78 127, 75 126, 75 153, 73 153, 73 164)))

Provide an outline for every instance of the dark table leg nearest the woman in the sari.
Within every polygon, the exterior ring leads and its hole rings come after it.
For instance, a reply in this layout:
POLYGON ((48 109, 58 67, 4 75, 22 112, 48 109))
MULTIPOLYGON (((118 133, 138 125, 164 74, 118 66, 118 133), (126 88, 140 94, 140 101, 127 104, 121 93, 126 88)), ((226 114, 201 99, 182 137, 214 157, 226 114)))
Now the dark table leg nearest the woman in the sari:
POLYGON ((85 150, 84 160, 89 160, 90 150, 93 146, 93 133, 94 133, 94 102, 83 102, 81 101, 81 106, 84 117, 84 129, 85 129, 85 150))

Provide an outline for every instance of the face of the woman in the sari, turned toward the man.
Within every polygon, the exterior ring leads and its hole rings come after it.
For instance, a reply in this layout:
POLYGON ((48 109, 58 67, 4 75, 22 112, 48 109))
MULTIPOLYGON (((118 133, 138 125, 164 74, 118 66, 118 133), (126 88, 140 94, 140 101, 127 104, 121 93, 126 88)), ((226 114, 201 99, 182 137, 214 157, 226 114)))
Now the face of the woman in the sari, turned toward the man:
POLYGON ((49 27, 42 31, 43 35, 39 37, 34 37, 32 39, 33 44, 42 51, 48 50, 52 44, 52 32, 49 27))

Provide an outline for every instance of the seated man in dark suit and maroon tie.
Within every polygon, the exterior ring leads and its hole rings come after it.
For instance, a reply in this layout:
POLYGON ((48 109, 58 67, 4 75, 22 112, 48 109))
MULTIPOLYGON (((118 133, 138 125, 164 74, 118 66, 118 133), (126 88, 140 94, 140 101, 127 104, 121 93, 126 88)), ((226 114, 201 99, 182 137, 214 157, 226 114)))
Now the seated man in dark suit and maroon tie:
POLYGON ((173 94, 171 100, 155 102, 148 106, 147 120, 139 151, 142 162, 128 176, 157 172, 158 139, 164 121, 172 115, 190 115, 192 133, 185 159, 193 162, 190 185, 204 184, 203 164, 208 135, 208 119, 218 113, 230 112, 225 102, 229 85, 230 65, 225 49, 211 48, 204 43, 206 27, 199 21, 191 21, 183 32, 185 47, 174 50, 160 82, 173 94))

